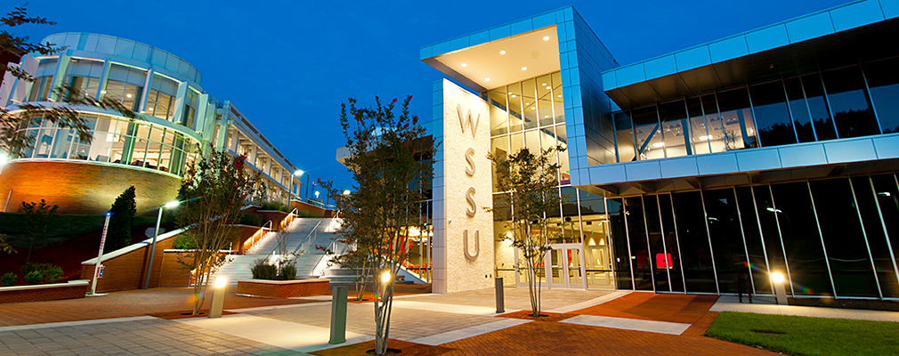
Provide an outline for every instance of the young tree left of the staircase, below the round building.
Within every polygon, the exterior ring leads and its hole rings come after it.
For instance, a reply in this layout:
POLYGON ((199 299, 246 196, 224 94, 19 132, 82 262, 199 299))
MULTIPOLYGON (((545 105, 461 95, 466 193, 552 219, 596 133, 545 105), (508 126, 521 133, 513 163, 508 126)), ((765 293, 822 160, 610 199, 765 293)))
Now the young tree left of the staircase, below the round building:
POLYGON ((184 175, 179 200, 190 201, 182 204, 178 219, 187 227, 184 238, 195 246, 182 260, 193 274, 194 315, 200 314, 209 277, 227 262, 219 251, 229 249, 234 241, 237 230, 231 226, 240 222, 259 179, 250 171, 246 156, 210 149, 209 156, 184 175))

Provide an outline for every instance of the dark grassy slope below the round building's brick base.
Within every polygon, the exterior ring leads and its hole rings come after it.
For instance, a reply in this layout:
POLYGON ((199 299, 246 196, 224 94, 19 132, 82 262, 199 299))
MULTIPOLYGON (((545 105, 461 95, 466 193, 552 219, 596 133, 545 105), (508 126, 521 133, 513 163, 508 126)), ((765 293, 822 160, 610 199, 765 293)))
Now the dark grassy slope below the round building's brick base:
MULTIPOLYGON (((6 242, 15 247, 28 247, 29 242, 24 236, 25 227, 22 224, 24 216, 25 214, 20 213, 0 213, 0 234, 5 235, 6 242)), ((47 237, 41 241, 35 240, 34 247, 58 244, 93 231, 100 231, 105 218, 102 215, 54 215, 47 228, 47 237)), ((156 223, 156 217, 134 218, 136 226, 154 223, 156 223)), ((136 240, 142 239, 143 236, 136 238, 136 240)))

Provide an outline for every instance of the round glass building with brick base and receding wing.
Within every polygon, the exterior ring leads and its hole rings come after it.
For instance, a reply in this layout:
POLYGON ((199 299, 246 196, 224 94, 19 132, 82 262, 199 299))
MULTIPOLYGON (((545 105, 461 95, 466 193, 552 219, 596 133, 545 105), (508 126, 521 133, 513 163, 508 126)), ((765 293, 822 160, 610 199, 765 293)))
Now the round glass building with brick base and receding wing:
POLYGON ((296 167, 232 102, 217 101, 202 86, 200 72, 182 58, 132 40, 93 34, 59 33, 42 43, 65 49, 53 56, 25 56, 18 64, 33 82, 6 74, 0 106, 13 114, 19 105, 67 105, 93 131, 84 142, 73 129, 31 120, 20 133, 33 147, 10 153, 0 168, 2 211, 21 201, 45 199, 60 212, 100 213, 130 185, 138 189, 138 211, 174 199, 186 167, 209 147, 247 155, 262 173, 268 199, 289 202, 299 182, 296 167), (64 103, 53 88, 71 85, 96 98, 113 98, 139 113, 64 103), (289 185, 293 185, 289 187, 289 185))

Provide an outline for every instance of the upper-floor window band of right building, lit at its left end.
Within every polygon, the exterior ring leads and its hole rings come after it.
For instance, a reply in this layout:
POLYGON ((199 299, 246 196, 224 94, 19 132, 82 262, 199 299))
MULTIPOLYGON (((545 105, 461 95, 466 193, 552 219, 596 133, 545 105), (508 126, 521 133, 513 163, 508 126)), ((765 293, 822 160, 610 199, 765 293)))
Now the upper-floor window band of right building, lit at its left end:
POLYGON ((899 58, 616 111, 618 162, 899 132, 899 58))

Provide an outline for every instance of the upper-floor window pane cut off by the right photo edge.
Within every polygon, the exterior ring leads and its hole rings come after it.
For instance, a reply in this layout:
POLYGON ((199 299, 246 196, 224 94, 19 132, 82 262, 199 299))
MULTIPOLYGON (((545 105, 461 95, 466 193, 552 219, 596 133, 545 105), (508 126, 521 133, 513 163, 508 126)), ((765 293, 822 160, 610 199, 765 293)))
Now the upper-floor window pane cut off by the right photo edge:
POLYGON ((864 69, 880 129, 899 132, 899 58, 871 62, 864 69))

